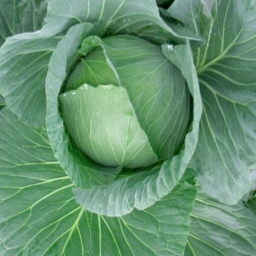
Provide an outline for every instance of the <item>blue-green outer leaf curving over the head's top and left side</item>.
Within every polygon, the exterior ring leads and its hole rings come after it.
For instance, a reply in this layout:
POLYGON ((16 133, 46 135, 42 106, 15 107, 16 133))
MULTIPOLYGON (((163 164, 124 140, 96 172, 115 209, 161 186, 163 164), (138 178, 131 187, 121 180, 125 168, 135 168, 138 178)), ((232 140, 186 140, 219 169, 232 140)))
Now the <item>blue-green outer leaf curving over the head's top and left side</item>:
POLYGON ((52 49, 70 26, 85 21, 100 22, 106 35, 134 33, 139 36, 140 28, 149 32, 148 37, 152 35, 151 30, 154 34, 159 29, 167 31, 161 32, 162 42, 176 35, 159 17, 154 0, 49 0, 41 30, 14 35, 0 48, 0 94, 27 124, 39 127, 45 122, 44 85, 52 49), (57 37, 52 37, 56 34, 57 37))

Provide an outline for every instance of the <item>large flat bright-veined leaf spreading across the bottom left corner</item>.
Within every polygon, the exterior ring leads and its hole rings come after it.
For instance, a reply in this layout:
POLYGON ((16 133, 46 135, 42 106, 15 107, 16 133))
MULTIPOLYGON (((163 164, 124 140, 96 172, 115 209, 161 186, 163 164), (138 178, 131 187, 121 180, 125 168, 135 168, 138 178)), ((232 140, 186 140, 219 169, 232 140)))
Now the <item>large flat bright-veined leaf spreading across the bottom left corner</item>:
POLYGON ((75 203, 44 128, 0 112, 1 255, 181 255, 195 189, 187 182, 146 210, 122 217, 75 203), (7 150, 6 150, 7 149, 7 150))

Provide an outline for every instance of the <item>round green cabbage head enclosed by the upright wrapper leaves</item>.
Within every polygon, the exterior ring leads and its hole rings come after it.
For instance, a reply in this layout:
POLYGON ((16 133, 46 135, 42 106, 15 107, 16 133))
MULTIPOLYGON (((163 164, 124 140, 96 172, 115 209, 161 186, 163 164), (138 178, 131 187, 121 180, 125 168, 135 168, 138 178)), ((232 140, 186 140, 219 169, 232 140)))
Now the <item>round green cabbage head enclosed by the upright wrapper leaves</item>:
POLYGON ((189 92, 161 47, 127 34, 89 36, 79 53, 85 56, 60 95, 77 147, 105 166, 137 168, 172 158, 186 134, 189 92))

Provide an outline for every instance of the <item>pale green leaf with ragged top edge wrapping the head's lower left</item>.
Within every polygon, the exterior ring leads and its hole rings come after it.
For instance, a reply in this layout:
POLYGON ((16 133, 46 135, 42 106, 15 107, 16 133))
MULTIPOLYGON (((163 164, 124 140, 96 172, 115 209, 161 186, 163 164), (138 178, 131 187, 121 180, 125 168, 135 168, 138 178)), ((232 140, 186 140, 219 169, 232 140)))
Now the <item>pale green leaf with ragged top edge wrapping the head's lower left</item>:
POLYGON ((137 168, 157 161, 125 88, 83 84, 59 99, 69 134, 96 162, 137 168))

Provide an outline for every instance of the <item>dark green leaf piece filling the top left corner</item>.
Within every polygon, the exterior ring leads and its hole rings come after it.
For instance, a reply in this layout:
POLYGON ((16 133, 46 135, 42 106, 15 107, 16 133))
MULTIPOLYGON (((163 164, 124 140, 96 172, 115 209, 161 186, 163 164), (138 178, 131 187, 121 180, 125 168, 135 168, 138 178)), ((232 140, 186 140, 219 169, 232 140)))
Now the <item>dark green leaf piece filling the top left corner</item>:
POLYGON ((46 9, 46 0, 1 0, 0 46, 8 36, 41 28, 46 9))

